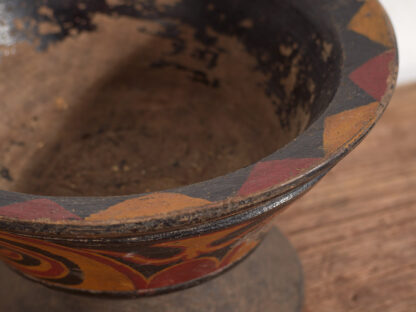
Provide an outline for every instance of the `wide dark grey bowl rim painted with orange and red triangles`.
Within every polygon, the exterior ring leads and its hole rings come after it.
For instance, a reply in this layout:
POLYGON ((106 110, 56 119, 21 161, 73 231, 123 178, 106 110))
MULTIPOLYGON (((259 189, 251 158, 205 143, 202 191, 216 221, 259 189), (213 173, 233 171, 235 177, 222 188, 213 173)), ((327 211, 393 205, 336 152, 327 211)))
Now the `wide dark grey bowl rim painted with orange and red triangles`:
POLYGON ((213 223, 278 198, 294 199, 292 193, 312 185, 361 142, 396 85, 397 44, 384 8, 378 0, 338 2, 344 7, 327 9, 344 58, 340 83, 319 118, 289 144, 246 168, 173 190, 103 197, 0 191, 0 230, 57 237, 139 236, 213 223), (348 18, 337 19, 337 14, 348 18), (221 199, 215 199, 221 192, 221 199))

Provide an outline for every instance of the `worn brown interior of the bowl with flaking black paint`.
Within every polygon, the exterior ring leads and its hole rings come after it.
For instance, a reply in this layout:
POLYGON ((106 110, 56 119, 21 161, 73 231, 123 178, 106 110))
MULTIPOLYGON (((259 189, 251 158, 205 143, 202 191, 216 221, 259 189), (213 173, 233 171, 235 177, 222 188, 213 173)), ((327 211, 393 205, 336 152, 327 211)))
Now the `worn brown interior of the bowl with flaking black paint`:
POLYGON ((0 189, 155 191, 284 146, 340 70, 309 2, 0 1, 0 189))

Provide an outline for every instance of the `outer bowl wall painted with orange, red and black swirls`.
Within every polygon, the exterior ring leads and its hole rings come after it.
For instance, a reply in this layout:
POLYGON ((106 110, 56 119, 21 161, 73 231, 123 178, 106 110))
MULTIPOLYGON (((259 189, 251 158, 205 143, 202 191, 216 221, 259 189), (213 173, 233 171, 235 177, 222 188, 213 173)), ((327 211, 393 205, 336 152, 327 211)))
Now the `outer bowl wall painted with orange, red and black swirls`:
POLYGON ((274 213, 193 237, 117 243, 50 241, 0 232, 0 259, 23 276, 74 292, 143 296, 218 275, 261 242, 274 213))

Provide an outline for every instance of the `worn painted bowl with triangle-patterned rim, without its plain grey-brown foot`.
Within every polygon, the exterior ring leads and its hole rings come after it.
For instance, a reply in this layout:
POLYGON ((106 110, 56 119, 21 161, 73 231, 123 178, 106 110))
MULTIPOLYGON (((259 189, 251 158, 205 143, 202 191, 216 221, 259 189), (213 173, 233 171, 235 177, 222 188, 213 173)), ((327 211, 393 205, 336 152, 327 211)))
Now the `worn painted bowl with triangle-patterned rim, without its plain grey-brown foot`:
POLYGON ((0 20, 0 259, 67 291, 238 263, 397 76, 376 0, 4 0, 0 20))

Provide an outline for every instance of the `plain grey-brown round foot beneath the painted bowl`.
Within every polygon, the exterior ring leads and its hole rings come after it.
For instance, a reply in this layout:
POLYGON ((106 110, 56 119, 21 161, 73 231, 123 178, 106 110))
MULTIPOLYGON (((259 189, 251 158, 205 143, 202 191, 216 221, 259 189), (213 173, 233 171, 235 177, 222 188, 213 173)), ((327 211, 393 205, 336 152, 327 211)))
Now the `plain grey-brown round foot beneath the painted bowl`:
POLYGON ((302 269, 288 240, 272 228, 241 264, 199 286, 138 299, 77 296, 30 282, 0 264, 0 311, 300 312, 302 269))

